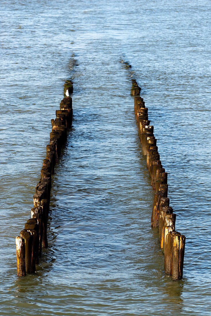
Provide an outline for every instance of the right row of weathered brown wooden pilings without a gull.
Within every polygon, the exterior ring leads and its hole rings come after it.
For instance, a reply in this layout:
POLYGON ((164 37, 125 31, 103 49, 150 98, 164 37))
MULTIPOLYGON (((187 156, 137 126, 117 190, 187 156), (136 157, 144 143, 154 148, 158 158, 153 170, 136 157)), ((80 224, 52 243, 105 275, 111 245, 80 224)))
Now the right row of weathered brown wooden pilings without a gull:
POLYGON ((142 144, 142 154, 146 156, 146 166, 151 177, 151 185, 155 190, 151 227, 159 230, 160 248, 164 253, 165 273, 172 276, 172 280, 183 277, 183 259, 185 250, 185 236, 175 231, 176 214, 169 206, 167 173, 160 161, 157 140, 154 137, 154 127, 148 120, 148 108, 145 107, 140 94, 140 87, 132 80, 131 95, 134 95, 134 109, 138 122, 138 133, 142 144))

